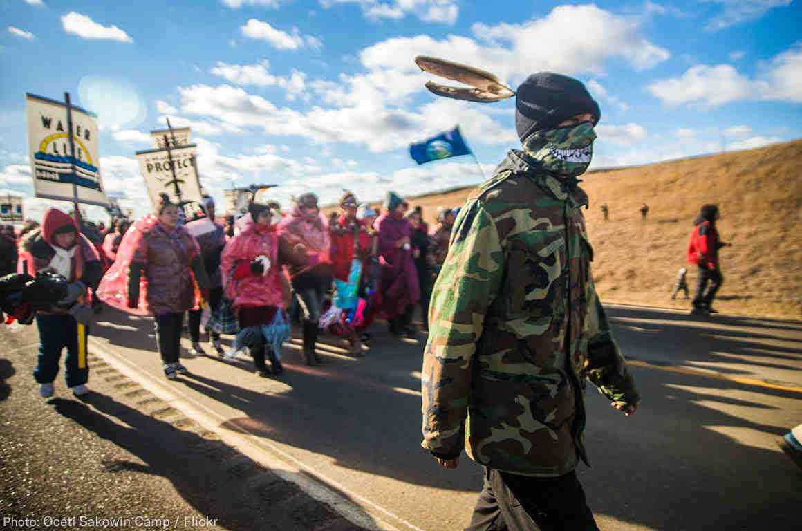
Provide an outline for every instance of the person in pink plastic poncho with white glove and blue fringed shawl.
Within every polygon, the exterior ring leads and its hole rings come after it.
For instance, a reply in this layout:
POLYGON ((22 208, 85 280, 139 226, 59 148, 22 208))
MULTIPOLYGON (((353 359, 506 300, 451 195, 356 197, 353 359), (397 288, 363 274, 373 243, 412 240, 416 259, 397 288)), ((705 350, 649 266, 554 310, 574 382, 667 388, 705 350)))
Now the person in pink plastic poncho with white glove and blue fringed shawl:
POLYGON ((225 296, 240 325, 233 355, 248 346, 257 374, 266 377, 283 371, 282 343, 290 338, 285 310, 290 289, 282 265, 305 266, 307 260, 301 245, 294 247, 277 234, 281 220, 277 203, 251 201, 248 211, 238 221, 240 233, 223 249, 221 274, 225 296))

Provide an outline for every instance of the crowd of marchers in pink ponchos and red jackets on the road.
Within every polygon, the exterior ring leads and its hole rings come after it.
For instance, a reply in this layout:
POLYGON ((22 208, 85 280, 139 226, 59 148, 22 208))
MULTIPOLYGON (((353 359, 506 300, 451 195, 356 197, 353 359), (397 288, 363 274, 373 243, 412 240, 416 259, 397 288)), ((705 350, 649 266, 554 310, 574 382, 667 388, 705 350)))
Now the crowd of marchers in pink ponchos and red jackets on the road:
POLYGON ((314 193, 296 197, 290 213, 277 201, 252 198, 240 217, 217 217, 213 198, 205 197, 191 219, 162 195, 152 213, 136 222, 114 219, 108 229, 48 209, 41 224, 0 230, 0 273, 48 272, 67 286, 66 296, 35 314, 41 345, 34 377, 46 398, 65 349, 67 387, 88 392, 87 335, 102 302, 152 316, 168 379, 187 373, 181 358, 207 354, 227 362, 250 357, 267 377, 282 372, 282 344, 293 326, 308 365, 320 363, 320 333, 342 338, 354 356, 370 350, 375 318, 395 337, 425 333, 431 286, 458 211, 440 208, 430 233, 422 209, 392 192, 379 213, 346 191, 330 217, 314 193), (418 314, 422 323, 413 321, 418 314), (185 351, 182 333, 192 344, 185 351), (221 334, 233 336, 231 347, 221 334))

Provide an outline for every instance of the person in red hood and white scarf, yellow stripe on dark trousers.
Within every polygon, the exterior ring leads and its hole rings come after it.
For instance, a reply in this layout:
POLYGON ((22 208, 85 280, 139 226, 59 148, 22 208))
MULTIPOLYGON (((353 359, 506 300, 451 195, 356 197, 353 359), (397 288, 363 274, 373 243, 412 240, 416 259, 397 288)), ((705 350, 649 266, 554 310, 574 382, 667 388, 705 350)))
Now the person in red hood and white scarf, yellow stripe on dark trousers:
POLYGON ((67 387, 75 396, 86 395, 89 380, 87 363, 88 323, 91 309, 87 306, 87 288, 94 290, 103 266, 95 245, 79 233, 78 224, 59 209, 45 212, 41 229, 34 229, 20 242, 18 272, 35 275, 40 272, 60 274, 69 282, 67 297, 49 312, 38 312, 38 363, 34 378, 44 398, 53 395, 53 381, 59 373, 59 359, 67 349, 67 387))

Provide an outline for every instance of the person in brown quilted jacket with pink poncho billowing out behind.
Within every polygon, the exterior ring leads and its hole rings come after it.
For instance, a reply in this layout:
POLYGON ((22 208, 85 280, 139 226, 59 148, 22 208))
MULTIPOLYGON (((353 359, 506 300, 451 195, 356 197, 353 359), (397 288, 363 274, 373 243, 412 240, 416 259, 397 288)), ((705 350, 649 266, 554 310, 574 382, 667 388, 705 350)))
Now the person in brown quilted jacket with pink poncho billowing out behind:
POLYGON ((168 379, 188 374, 179 361, 181 328, 184 312, 198 304, 196 285, 201 297, 209 300, 201 248, 178 224, 179 210, 167 194, 161 194, 155 212, 128 229, 117 260, 98 288, 99 297, 110 306, 153 315, 156 347, 168 379))

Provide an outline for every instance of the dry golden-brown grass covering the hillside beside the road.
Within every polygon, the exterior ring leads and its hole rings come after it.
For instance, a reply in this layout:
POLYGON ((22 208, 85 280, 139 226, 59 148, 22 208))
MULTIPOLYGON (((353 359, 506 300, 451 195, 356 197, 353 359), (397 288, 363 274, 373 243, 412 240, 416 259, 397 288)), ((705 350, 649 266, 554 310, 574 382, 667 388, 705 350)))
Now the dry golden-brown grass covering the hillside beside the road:
MULTIPOLYGON (((595 250, 593 278, 602 300, 690 309, 672 301, 677 270, 704 203, 722 214, 723 313, 802 318, 802 140, 585 174, 585 212, 595 250), (610 207, 605 222, 599 205, 610 207), (649 205, 641 221, 640 205, 649 205)), ((417 197, 433 222, 438 205, 460 205, 471 188, 417 197)), ((688 266, 691 297, 695 266, 688 266)), ((680 295, 682 297, 683 295, 680 295)))

